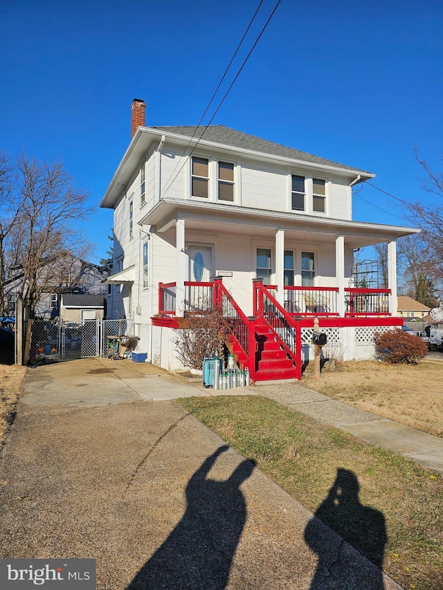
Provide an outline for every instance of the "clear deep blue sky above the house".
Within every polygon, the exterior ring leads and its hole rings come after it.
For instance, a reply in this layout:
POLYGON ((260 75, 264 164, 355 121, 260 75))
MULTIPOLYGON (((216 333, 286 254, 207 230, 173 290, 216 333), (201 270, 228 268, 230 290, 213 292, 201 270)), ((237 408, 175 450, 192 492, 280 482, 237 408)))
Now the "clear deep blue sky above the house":
MULTIPOLYGON (((215 105, 275 1, 263 1, 215 105)), ((196 125, 257 6, 0 0, 0 148, 62 160, 98 207, 129 144, 132 99, 147 103, 147 125, 196 125)), ((282 0, 213 123, 428 199, 413 150, 443 169, 442 26, 440 0, 282 0)), ((367 185, 354 196, 356 220, 404 225, 401 215, 367 185)), ((91 260, 105 255, 111 227, 109 210, 93 212, 91 260)))

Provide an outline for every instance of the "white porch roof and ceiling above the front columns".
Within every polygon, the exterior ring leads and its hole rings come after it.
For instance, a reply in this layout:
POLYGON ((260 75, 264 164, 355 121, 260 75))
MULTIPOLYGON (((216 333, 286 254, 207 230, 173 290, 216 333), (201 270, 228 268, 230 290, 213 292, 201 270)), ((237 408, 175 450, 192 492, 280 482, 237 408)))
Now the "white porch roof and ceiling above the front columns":
POLYGON ((140 225, 152 225, 163 233, 186 220, 186 230, 204 230, 213 234, 238 234, 275 237, 280 229, 285 239, 309 243, 332 243, 338 235, 345 236, 347 248, 363 248, 419 232, 396 225, 343 221, 298 213, 280 213, 237 205, 201 203, 184 199, 162 199, 141 220, 140 225))

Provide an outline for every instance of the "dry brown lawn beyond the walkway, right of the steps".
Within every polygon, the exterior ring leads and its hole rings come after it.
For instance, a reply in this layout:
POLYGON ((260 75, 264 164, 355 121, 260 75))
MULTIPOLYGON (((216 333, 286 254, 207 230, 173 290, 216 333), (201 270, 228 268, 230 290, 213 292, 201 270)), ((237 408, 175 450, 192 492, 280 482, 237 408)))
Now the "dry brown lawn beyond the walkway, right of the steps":
POLYGON ((386 365, 349 361, 314 380, 311 367, 302 384, 334 400, 443 438, 443 362, 386 365))

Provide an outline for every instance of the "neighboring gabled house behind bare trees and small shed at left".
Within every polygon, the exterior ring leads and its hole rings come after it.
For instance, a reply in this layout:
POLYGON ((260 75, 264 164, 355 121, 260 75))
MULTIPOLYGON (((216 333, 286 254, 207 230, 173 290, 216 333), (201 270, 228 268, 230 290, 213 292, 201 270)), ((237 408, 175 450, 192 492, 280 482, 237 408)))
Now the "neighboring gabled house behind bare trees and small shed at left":
MULTIPOLYGON (((6 297, 10 313, 15 311, 15 301, 23 277, 21 269, 15 269, 6 286, 6 297)), ((44 270, 42 271, 44 275, 44 270)), ((48 320, 60 315, 60 302, 63 293, 88 293, 107 295, 103 281, 109 273, 91 262, 66 254, 57 262, 55 272, 51 268, 51 280, 47 281, 44 292, 35 307, 35 317, 48 320)))

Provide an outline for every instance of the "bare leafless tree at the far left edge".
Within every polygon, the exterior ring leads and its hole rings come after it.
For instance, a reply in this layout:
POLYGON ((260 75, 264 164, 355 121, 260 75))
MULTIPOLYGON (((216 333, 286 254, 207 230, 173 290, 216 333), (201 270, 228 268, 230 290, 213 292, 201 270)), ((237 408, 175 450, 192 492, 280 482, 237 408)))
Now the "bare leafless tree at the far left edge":
POLYGON ((0 160, 0 170, 0 203, 9 203, 0 225, 1 302, 4 306, 13 269, 20 281, 17 295, 32 311, 66 252, 80 244, 84 254, 78 223, 89 214, 88 195, 75 188, 61 163, 21 156, 15 168, 10 160, 3 160, 2 167, 0 160))

